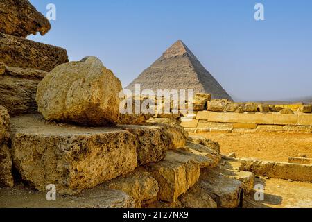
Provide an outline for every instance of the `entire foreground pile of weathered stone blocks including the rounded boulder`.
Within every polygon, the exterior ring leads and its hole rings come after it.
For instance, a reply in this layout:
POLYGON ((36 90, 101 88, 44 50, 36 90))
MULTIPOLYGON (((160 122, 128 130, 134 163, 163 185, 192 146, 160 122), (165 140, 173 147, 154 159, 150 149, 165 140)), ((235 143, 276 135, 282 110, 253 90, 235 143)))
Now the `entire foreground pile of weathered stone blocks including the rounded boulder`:
POLYGON ((26 40, 51 28, 28 1, 0 9, 0 207, 15 193, 26 196, 19 207, 243 205, 254 174, 221 160, 218 143, 119 114, 121 83, 98 58, 69 62, 26 40), (49 185, 57 201, 46 200, 49 185))

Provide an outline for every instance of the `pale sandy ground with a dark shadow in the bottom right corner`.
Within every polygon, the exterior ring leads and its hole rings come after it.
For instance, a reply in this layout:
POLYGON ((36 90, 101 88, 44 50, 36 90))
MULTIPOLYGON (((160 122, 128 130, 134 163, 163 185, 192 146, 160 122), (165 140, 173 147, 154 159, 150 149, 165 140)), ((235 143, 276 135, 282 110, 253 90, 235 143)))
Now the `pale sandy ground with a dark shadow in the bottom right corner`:
POLYGON ((254 191, 244 200, 245 208, 312 208, 312 183, 256 178, 264 186, 264 200, 256 201, 254 191))

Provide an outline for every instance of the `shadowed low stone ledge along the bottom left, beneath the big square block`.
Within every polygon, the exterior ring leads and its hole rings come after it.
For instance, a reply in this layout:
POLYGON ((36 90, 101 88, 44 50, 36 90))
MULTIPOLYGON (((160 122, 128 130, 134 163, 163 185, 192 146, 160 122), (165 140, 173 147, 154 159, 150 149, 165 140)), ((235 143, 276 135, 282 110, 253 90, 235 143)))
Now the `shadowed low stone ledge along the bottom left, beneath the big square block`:
MULTIPOLYGON (((62 196, 46 200, 46 194, 31 187, 16 185, 0 188, 0 208, 133 208, 134 200, 125 192, 109 189, 103 185, 86 189, 77 196, 62 196)), ((51 197, 51 195, 49 195, 51 197)))

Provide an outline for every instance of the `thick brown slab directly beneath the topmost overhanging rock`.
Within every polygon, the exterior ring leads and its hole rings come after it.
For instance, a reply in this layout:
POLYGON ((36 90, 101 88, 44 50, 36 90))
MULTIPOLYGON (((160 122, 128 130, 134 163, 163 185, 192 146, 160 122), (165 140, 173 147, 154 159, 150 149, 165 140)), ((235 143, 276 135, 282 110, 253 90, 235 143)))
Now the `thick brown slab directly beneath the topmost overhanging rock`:
POLYGON ((68 56, 60 47, 0 33, 0 62, 10 67, 51 71, 68 62, 68 56))

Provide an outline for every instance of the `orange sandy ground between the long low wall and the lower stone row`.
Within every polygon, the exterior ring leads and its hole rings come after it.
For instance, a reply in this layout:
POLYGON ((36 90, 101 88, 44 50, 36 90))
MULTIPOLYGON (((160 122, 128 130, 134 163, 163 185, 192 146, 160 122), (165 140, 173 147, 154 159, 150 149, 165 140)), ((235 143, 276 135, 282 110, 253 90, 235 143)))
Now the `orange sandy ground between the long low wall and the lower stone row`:
POLYGON ((220 144, 221 153, 236 157, 288 162, 304 154, 312 158, 312 134, 305 133, 196 133, 220 144))

